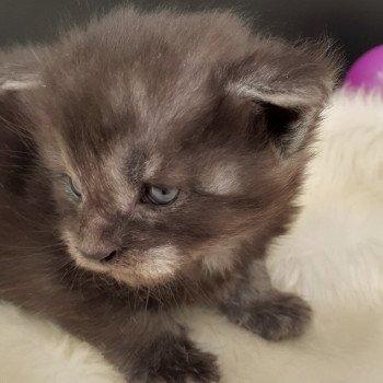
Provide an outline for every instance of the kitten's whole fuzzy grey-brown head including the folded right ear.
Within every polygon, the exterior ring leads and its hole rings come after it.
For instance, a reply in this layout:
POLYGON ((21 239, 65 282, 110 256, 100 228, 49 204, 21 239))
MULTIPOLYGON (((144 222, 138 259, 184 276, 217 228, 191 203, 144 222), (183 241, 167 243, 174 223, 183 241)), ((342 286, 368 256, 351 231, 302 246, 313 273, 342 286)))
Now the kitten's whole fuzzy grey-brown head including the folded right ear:
POLYGON ((333 86, 323 48, 229 13, 120 10, 39 59, 25 97, 82 267, 130 286, 227 272, 289 222, 333 86))

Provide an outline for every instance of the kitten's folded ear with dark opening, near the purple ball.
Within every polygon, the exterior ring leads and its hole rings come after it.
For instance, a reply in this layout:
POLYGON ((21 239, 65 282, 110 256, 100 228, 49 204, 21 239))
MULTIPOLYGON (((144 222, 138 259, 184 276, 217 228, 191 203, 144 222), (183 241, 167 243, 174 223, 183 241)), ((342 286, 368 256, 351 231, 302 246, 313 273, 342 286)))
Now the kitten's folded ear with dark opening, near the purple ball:
POLYGON ((283 154, 298 151, 315 128, 334 89, 338 60, 321 45, 259 47, 230 68, 227 92, 247 105, 247 136, 272 142, 283 154))

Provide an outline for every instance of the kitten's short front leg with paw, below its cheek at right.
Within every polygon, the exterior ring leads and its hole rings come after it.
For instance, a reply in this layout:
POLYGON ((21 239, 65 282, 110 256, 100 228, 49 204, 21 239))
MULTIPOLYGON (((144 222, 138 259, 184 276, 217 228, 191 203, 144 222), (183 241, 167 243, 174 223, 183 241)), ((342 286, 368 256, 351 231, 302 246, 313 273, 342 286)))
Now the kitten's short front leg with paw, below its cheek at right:
POLYGON ((312 310, 298 295, 272 288, 264 260, 256 260, 236 280, 220 303, 229 320, 268 340, 289 339, 303 334, 312 310))

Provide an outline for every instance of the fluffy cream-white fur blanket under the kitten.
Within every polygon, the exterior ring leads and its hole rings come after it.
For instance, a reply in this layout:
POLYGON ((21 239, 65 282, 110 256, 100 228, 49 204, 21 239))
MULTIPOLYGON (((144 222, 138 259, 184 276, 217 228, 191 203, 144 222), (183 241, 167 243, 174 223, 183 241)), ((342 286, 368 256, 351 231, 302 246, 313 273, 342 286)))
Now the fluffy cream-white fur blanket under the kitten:
MULTIPOLYGON (((300 339, 267 343, 195 310, 183 320, 219 356, 223 383, 383 382, 383 100, 335 95, 289 235, 268 266, 315 310, 300 339)), ((0 304, 0 383, 118 383, 90 346, 0 304)))

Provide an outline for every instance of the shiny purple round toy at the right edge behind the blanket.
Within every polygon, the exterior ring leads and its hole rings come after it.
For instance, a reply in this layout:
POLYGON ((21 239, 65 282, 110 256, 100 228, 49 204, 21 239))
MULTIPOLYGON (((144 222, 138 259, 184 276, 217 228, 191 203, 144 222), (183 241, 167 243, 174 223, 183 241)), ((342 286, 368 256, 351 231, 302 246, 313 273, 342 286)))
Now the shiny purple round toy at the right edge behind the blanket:
POLYGON ((383 45, 368 50, 353 63, 345 85, 355 90, 381 90, 383 93, 383 45))

